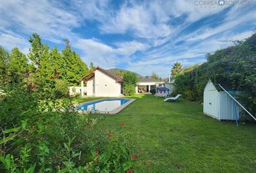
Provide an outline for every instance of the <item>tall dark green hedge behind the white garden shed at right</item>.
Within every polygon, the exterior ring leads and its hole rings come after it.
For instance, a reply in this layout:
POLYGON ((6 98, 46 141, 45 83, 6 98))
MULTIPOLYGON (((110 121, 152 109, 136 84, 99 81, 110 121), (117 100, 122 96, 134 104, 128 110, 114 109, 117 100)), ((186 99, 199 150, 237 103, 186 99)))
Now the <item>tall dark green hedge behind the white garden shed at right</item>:
POLYGON ((190 100, 202 102, 203 90, 208 79, 221 84, 226 89, 242 91, 239 98, 250 110, 256 112, 256 34, 244 43, 208 54, 208 61, 201 66, 193 66, 176 76, 178 92, 190 100), (187 94, 185 94, 187 93, 187 94))

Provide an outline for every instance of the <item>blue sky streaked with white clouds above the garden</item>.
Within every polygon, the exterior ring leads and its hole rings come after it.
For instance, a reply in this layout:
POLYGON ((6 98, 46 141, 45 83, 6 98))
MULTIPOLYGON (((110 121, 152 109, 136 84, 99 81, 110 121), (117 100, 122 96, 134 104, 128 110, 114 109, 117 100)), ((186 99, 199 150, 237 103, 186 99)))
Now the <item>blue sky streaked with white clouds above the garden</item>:
POLYGON ((61 50, 63 38, 85 63, 168 76, 243 40, 256 27, 256 1, 18 1, 0 3, 0 45, 27 53, 31 33, 61 50))

